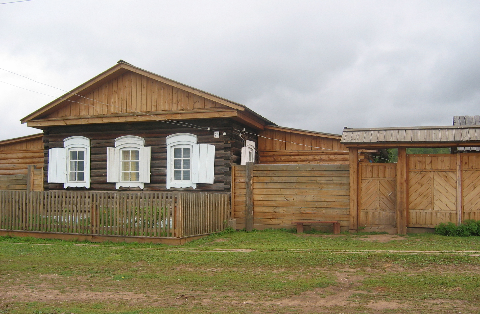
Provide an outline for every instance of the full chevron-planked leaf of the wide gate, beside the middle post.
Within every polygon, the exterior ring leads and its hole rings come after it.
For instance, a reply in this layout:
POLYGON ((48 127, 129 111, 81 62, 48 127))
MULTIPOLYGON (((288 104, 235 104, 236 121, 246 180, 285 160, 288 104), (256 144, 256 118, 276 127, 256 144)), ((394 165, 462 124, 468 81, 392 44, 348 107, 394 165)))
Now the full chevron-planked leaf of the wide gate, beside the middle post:
POLYGON ((412 154, 408 160, 408 227, 458 221, 459 154, 412 154))

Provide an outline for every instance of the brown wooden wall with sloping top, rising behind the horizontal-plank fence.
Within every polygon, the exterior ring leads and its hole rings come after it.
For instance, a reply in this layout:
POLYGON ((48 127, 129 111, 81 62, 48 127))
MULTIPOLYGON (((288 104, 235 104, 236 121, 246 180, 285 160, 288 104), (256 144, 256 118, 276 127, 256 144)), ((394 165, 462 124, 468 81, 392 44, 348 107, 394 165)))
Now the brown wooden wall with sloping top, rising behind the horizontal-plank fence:
POLYGON ((273 129, 259 135, 268 138, 258 138, 260 164, 348 164, 348 149, 339 139, 273 129))

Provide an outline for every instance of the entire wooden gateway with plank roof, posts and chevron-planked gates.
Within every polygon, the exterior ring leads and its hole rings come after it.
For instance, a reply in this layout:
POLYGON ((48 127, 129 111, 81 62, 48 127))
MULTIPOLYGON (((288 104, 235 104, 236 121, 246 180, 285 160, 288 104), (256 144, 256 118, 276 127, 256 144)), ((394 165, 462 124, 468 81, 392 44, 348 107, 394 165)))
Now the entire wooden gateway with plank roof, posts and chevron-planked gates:
POLYGON ((480 219, 480 154, 409 154, 407 148, 480 146, 480 126, 345 128, 350 230, 432 228, 480 219), (359 149, 397 148, 397 163, 359 163, 359 149))

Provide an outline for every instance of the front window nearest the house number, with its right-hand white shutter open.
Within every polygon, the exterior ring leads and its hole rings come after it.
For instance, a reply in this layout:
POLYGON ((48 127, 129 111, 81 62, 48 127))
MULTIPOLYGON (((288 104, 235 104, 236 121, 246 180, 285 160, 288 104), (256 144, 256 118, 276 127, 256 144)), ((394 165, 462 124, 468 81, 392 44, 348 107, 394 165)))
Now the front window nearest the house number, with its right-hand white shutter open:
POLYGON ((197 187, 214 182, 215 146, 197 144, 196 135, 177 133, 167 137, 167 188, 197 187))

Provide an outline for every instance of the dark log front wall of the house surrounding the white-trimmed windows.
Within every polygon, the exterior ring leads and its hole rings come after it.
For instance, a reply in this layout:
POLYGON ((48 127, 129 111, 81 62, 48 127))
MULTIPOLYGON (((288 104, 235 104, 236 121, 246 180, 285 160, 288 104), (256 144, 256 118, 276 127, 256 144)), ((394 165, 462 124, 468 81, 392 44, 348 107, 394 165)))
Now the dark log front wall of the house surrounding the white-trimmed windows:
MULTIPOLYGON (((78 126, 50 127, 45 130, 45 190, 63 190, 63 184, 48 183, 48 149, 63 147, 63 139, 80 135, 91 140, 90 190, 112 191, 115 183, 107 183, 107 147, 115 147, 115 139, 124 135, 136 135, 144 138, 145 146, 151 147, 150 183, 145 183, 144 191, 189 191, 189 192, 230 192, 231 165, 240 163, 243 140, 228 131, 228 128, 241 129, 229 119, 192 120, 192 124, 225 128, 227 135, 214 138, 214 131, 181 126, 163 122, 109 123, 78 126), (167 190, 167 136, 175 133, 192 133, 197 135, 198 143, 215 145, 214 184, 197 184, 196 189, 171 188, 167 190)), ((249 130, 253 132, 253 130, 249 130)), ((256 140, 250 138, 250 140, 256 140)), ((75 188, 69 188, 75 189, 75 188)), ((77 188, 84 190, 85 188, 77 188)), ((121 188, 122 190, 139 190, 139 188, 121 188)))

